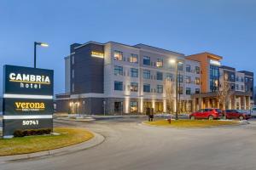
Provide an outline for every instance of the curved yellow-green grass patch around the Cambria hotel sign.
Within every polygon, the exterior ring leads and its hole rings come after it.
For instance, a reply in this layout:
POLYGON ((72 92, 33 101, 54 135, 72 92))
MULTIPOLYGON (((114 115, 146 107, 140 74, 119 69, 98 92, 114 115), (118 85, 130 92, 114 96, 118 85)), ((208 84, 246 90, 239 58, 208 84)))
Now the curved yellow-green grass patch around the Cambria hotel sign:
POLYGON ((84 128, 76 127, 55 127, 54 132, 60 133, 60 135, 0 139, 0 156, 53 150, 72 144, 79 144, 93 138, 94 136, 84 128))

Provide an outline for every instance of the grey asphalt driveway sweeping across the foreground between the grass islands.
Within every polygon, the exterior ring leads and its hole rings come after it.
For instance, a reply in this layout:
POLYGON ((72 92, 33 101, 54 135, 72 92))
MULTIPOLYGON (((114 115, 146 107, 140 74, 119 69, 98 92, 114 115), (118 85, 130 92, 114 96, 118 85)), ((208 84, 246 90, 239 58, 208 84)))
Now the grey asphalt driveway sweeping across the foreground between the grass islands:
POLYGON ((166 128, 143 119, 97 122, 55 121, 55 126, 86 127, 106 139, 96 147, 62 156, 0 164, 1 170, 253 170, 256 122, 236 127, 166 128))

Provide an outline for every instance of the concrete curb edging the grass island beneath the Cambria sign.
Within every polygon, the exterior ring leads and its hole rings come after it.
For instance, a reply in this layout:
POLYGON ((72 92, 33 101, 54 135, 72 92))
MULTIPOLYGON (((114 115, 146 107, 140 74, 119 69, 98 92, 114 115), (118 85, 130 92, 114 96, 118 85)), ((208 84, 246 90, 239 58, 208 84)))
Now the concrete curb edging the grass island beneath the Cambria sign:
POLYGON ((16 156, 0 156, 0 164, 6 161, 25 160, 25 159, 31 159, 36 157, 42 157, 42 156, 61 156, 61 155, 73 153, 80 150, 87 150, 92 147, 95 147, 98 144, 102 144, 102 142, 105 140, 102 134, 99 134, 99 133, 93 133, 93 134, 94 134, 94 138, 90 140, 87 140, 80 144, 73 144, 60 149, 39 151, 36 153, 22 154, 22 155, 16 155, 16 156))

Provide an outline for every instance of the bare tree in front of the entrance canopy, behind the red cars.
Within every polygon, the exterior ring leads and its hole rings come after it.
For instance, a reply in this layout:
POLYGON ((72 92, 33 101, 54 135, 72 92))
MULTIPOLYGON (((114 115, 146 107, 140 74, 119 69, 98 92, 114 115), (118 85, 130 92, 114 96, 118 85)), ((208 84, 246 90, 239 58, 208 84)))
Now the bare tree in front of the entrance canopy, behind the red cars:
POLYGON ((231 83, 227 82, 225 79, 226 75, 219 77, 219 84, 217 90, 218 102, 223 105, 223 110, 226 109, 226 105, 229 104, 230 98, 233 95, 234 91, 232 89, 231 83))

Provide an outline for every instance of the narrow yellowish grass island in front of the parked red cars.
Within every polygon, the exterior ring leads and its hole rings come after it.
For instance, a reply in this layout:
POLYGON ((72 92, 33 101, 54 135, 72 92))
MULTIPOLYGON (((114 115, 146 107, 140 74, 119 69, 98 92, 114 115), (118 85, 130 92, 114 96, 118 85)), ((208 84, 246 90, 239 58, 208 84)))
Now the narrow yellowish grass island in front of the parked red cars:
POLYGON ((148 125, 162 127, 214 127, 223 125, 236 125, 237 121, 218 121, 218 120, 172 120, 171 124, 166 120, 157 120, 154 122, 144 122, 148 125))

